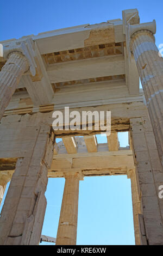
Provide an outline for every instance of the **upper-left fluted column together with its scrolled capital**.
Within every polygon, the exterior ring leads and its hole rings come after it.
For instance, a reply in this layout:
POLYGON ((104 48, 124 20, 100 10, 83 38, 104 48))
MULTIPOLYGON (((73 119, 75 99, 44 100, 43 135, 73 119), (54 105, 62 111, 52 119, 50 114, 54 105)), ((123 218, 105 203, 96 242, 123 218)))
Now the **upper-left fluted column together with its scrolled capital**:
POLYGON ((4 46, 1 54, 7 62, 0 72, 0 120, 24 72, 29 70, 32 76, 36 74, 32 39, 23 42, 14 41, 4 46))

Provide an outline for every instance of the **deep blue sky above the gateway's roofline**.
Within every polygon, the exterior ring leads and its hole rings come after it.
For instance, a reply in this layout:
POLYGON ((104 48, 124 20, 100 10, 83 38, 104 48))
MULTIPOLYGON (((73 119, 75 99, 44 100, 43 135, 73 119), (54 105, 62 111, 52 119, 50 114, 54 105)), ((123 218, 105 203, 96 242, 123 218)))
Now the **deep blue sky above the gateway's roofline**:
POLYGON ((1 1, 0 40, 20 38, 53 29, 100 23, 122 17, 122 10, 137 8, 141 22, 156 20, 156 44, 162 41, 162 0, 8 0, 1 1))

